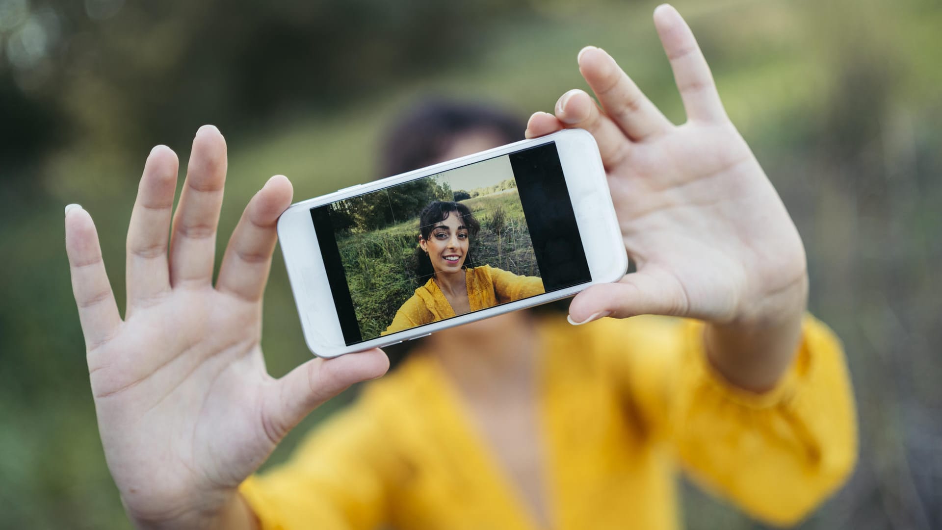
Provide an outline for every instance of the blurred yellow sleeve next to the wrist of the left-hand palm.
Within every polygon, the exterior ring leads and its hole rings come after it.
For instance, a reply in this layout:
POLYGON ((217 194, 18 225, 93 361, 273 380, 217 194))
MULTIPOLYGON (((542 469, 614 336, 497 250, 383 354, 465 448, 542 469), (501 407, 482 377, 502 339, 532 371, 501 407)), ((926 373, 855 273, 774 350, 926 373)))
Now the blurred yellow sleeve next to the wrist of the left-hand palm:
POLYGON ((390 517, 401 461, 382 412, 363 397, 308 435, 290 460, 239 491, 262 530, 372 529, 390 517))

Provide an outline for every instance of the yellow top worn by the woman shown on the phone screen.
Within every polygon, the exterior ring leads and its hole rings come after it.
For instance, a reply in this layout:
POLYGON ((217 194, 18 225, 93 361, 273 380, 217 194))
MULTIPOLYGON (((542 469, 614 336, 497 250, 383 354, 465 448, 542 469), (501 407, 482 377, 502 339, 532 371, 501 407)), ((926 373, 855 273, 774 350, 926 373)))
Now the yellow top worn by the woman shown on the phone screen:
MULTIPOLYGON (((543 280, 535 276, 517 276, 491 265, 464 269, 464 283, 468 289, 471 311, 542 295, 545 292, 543 280)), ((380 334, 388 335, 394 331, 414 328, 454 315, 455 310, 451 309, 445 294, 435 281, 429 279, 425 285, 415 289, 415 294, 396 312, 393 323, 380 334)))

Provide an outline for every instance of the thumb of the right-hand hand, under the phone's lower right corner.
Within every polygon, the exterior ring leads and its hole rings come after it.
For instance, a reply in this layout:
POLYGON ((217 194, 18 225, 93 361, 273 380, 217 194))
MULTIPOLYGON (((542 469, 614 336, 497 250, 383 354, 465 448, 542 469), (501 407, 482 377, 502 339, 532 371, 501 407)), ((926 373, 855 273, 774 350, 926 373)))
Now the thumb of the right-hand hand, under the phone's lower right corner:
POLYGON ((586 324, 602 318, 627 318, 639 314, 683 314, 687 297, 673 276, 634 272, 615 283, 593 285, 569 304, 569 322, 586 324))

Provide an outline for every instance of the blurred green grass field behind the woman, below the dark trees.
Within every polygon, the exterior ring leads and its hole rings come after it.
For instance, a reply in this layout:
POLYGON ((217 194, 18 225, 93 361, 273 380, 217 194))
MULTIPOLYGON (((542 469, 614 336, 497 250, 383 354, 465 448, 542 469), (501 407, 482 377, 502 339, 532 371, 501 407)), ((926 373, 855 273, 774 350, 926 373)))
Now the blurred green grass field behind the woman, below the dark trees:
MULTIPOLYGON (((470 62, 369 88, 368 97, 329 112, 224 130, 230 171, 219 253, 241 208, 271 174, 291 178, 297 200, 382 176, 373 160, 383 127, 422 95, 495 101, 522 115, 550 110, 566 89, 585 88, 576 68, 585 44, 607 49, 667 116, 683 120, 651 24, 654 3, 547 6, 543 19, 494 24, 479 36, 470 62)), ((704 47, 730 116, 803 234, 812 311, 848 349, 863 457, 852 484, 805 527, 942 524, 918 515, 942 506, 939 3, 676 6, 704 47)), ((147 128, 113 126, 138 134, 147 128)), ((185 168, 187 143, 154 138, 160 141, 171 141, 185 168)), ((0 248, 14 259, 0 261, 0 527, 129 527, 95 427, 61 219, 68 202, 82 203, 95 218, 123 306, 123 234, 145 156, 116 153, 90 138, 65 146, 36 171, 39 196, 3 188, 0 248)), ((298 322, 278 252, 263 343, 275 376, 310 358, 298 322)), ((312 414, 267 465, 284 461, 300 436, 349 396, 312 414)), ((690 528, 756 527, 685 491, 690 528)))

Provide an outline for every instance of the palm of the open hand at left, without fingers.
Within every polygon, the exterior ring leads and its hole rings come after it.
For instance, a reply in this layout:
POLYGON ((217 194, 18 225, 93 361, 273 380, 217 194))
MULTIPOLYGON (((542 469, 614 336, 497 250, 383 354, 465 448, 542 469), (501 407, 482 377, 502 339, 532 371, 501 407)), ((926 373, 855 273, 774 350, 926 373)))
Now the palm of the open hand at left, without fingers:
POLYGON ((241 455, 264 457, 273 449, 275 433, 261 422, 260 399, 271 379, 259 348, 258 309, 211 289, 178 291, 128 318, 89 361, 115 480, 154 477, 138 489, 151 499, 150 510, 179 506, 188 494, 184 484, 235 488, 258 463, 241 455), (129 431, 136 436, 127 437, 129 431))

